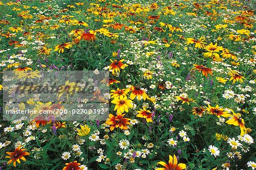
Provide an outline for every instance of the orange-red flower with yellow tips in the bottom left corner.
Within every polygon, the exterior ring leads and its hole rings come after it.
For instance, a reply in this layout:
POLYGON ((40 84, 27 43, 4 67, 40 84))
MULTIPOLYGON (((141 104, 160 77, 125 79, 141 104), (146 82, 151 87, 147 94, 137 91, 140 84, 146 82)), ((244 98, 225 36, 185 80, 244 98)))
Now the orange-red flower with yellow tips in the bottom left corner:
POLYGON ((11 164, 13 162, 14 167, 16 167, 16 161, 20 164, 20 159, 26 161, 24 156, 30 155, 28 152, 24 152, 26 149, 20 149, 20 146, 15 148, 14 152, 6 152, 6 154, 10 156, 6 156, 5 158, 10 158, 7 164, 11 164))

